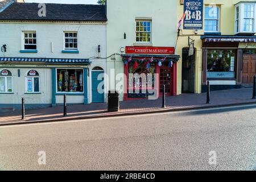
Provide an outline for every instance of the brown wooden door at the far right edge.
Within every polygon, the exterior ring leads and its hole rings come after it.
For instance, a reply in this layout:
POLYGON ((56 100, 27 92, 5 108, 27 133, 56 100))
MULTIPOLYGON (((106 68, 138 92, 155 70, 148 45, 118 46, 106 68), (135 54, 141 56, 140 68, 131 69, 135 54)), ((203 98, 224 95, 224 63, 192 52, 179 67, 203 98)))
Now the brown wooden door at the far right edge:
POLYGON ((256 75, 256 55, 243 55, 242 84, 252 85, 256 75))

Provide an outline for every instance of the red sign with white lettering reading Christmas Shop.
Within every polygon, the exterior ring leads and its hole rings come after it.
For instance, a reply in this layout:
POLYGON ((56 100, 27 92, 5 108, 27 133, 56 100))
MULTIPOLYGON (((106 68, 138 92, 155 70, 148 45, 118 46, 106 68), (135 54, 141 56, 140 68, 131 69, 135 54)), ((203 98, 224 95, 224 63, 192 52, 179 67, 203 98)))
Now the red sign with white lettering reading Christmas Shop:
POLYGON ((126 53, 173 55, 174 47, 134 47, 127 46, 126 53))

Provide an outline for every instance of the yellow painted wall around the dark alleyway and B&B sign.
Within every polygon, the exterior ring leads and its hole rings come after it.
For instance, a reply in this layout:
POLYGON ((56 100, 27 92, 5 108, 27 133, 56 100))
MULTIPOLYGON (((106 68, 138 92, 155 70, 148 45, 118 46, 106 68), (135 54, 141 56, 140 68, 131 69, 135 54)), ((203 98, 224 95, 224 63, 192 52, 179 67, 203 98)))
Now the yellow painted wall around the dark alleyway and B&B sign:
MULTIPOLYGON (((183 15, 183 5, 180 5, 180 0, 177 1, 177 22, 183 15)), ((234 35, 234 16, 235 7, 238 2, 255 2, 255 0, 204 0, 204 6, 215 3, 220 7, 220 32, 221 35, 234 35)), ((183 26, 183 25, 182 25, 183 26)), ((204 24, 203 24, 204 27, 204 24)), ((202 83, 202 42, 200 36, 204 35, 204 30, 199 30, 196 35, 193 30, 182 30, 177 42, 176 54, 181 56, 177 67, 177 94, 181 94, 181 76, 182 76, 182 49, 188 47, 188 36, 195 40, 196 48, 196 70, 195 70, 195 93, 201 93, 202 83)))

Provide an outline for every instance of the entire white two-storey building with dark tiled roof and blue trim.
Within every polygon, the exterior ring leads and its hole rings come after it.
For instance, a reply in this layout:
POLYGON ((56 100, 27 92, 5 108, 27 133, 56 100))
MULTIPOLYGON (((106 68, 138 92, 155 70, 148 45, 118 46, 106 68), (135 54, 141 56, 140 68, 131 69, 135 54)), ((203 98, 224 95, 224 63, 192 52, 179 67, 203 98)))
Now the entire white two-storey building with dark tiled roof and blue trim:
POLYGON ((0 13, 0 107, 105 102, 106 14, 100 5, 13 3, 0 13), (41 7, 42 8, 42 7, 41 7), (104 77, 102 77, 104 80, 104 77), (104 88, 104 85, 102 85, 104 88))

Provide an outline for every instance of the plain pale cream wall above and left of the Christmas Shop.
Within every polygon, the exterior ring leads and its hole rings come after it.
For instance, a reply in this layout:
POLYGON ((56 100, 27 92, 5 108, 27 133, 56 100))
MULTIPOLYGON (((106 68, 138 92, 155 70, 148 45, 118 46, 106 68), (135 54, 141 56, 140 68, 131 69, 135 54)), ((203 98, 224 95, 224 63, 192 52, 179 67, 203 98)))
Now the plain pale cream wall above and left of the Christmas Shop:
MULTIPOLYGON (((152 18, 151 46, 175 47, 176 7, 177 1, 108 0, 107 55, 121 53, 121 47, 136 45, 134 44, 136 41, 136 18, 152 18), (126 33, 126 39, 123 38, 124 33, 126 33)), ((110 68, 114 67, 117 68, 117 73, 123 73, 121 56, 116 55, 115 57, 115 65, 114 60, 108 59, 108 74, 110 68)), ((111 79, 110 82, 113 82, 114 78, 111 79)), ((123 94, 121 93, 122 99, 123 94)))

